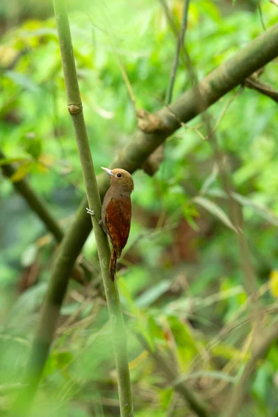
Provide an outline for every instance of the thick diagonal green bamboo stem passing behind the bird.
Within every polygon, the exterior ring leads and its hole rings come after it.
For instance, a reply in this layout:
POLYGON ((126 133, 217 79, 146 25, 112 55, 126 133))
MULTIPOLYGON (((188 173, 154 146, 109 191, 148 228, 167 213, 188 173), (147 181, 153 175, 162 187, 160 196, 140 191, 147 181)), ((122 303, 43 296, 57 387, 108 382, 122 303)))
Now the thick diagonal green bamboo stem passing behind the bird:
MULTIPOLYGON (((278 24, 275 24, 260 35, 259 38, 253 40, 247 47, 238 51, 230 60, 220 65, 211 74, 208 74, 199 83, 206 107, 211 106, 229 90, 243 83, 247 76, 250 76, 275 58, 277 56, 277 48, 278 24)), ((117 154, 111 166, 121 167, 131 173, 138 170, 156 147, 179 129, 182 123, 189 122, 199 113, 201 113, 201 110, 198 97, 195 95, 195 88, 191 88, 174 101, 171 106, 163 107, 156 113, 156 116, 163 121, 165 129, 157 129, 152 133, 139 131, 137 136, 132 138, 122 152, 117 154)), ((99 176, 98 185, 99 193, 103 197, 108 188, 106 174, 99 176)), ((63 239, 53 272, 51 273, 49 291, 44 302, 40 325, 35 334, 30 359, 26 368, 26 376, 24 377, 24 381, 29 383, 33 381, 31 389, 33 393, 35 393, 35 389, 38 386, 47 359, 47 353, 54 338, 58 311, 60 311, 63 298, 65 297, 67 281, 74 261, 81 252, 85 240, 92 229, 90 217, 85 212, 86 206, 88 206, 87 199, 83 199, 76 219, 63 239), (52 314, 52 311, 57 313, 52 314), (44 334, 43 329, 49 329, 49 331, 44 334), (40 345, 42 343, 44 345, 44 355, 40 354, 40 345), (36 359, 37 357, 38 360, 36 359), (35 375, 34 379, 31 377, 32 375, 35 375)), ((22 396, 23 398, 24 396, 26 397, 26 390, 24 389, 22 390, 22 396)))

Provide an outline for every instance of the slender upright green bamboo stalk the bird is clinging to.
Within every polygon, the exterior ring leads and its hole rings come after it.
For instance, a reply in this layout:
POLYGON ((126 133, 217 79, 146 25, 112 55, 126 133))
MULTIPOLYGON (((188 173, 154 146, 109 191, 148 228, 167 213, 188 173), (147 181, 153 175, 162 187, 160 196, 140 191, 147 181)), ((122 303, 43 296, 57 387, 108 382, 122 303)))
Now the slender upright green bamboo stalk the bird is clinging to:
POLYGON ((88 141, 85 121, 82 111, 82 103, 79 92, 79 85, 76 76, 74 63, 74 53, 72 49, 72 39, 70 34, 70 24, 67 17, 65 0, 54 0, 54 13, 58 29, 58 40, 60 44, 60 54, 62 58, 63 72, 65 76, 65 86, 67 91, 67 108, 72 116, 74 131, 76 136, 79 158, 81 161, 83 180, 85 183, 88 204, 96 215, 92 216, 92 225, 95 231, 97 252, 101 275, 104 281, 104 289, 108 311, 111 318, 113 332, 113 345, 115 350, 115 362, 117 369, 117 382, 120 398, 120 413, 122 417, 133 416, 133 403, 131 398, 131 384, 129 377, 129 361, 126 349, 126 333, 124 329, 124 319, 120 298, 117 291, 116 281, 112 281, 108 265, 110 250, 106 234, 99 225, 97 218, 100 218, 101 199, 97 187, 97 178, 92 163, 90 145, 88 141))

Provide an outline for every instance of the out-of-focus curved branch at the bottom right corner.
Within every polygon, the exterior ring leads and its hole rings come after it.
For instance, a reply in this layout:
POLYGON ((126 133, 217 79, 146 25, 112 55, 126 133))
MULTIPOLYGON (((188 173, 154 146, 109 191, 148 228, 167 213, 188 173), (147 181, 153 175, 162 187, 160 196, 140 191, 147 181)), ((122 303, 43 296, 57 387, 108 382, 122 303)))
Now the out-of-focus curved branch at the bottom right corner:
POLYGON ((245 366, 243 375, 240 377, 238 385, 234 390, 233 398, 231 400, 231 407, 229 407, 227 414, 224 414, 225 417, 237 416, 246 393, 247 382, 256 370, 256 363, 259 361, 259 359, 263 359, 268 354, 270 345, 275 341, 276 338, 278 338, 278 320, 266 330, 264 335, 261 336, 261 342, 252 355, 252 358, 245 366))

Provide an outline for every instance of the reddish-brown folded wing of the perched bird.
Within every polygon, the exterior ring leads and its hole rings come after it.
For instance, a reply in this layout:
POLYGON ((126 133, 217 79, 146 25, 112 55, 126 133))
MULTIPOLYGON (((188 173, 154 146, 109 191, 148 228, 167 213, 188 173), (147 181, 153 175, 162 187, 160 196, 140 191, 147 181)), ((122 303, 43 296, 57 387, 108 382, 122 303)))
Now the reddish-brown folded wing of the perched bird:
POLYGON ((117 258, 120 258, 122 249, 129 238, 130 224, 130 197, 111 198, 106 207, 106 226, 117 258))

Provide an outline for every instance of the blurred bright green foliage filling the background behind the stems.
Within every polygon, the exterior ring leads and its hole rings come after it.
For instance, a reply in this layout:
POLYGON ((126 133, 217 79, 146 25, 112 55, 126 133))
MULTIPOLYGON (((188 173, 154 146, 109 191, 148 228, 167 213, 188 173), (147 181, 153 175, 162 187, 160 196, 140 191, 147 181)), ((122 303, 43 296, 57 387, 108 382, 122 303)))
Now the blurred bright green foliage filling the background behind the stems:
MULTIPOLYGON (((183 3, 168 2, 179 26, 183 3)), ((85 121, 95 168, 132 140, 136 107, 163 106, 176 40, 158 1, 69 1, 85 121), (120 64, 119 64, 120 63, 120 64)), ((278 10, 261 1, 266 27, 278 10)), ((84 195, 51 2, 0 6, 0 147, 65 231, 84 195)), ((186 46, 198 79, 263 32, 256 1, 190 3, 186 46), (234 5, 233 5, 234 3, 234 5)), ((262 81, 278 89, 277 61, 262 81)), ((174 97, 191 85, 182 60, 174 97)), ((277 308, 277 104, 255 90, 230 92, 210 110, 243 206, 263 325, 277 308), (229 107, 228 107, 229 104, 229 107), (223 113, 224 112, 224 113, 223 113)), ((134 174, 133 222, 118 274, 129 334, 136 417, 190 415, 185 402, 142 347, 145 338, 177 363, 180 377, 215 407, 249 358, 250 300, 245 293, 229 204, 202 119, 177 131, 155 177, 134 174), (223 333, 221 329, 230 329, 223 333), (224 336, 223 336, 224 334, 224 336)), ((10 407, 47 288, 56 247, 40 220, 1 177, 0 407, 10 407), (22 284, 23 282, 23 284, 22 284), (19 291, 22 286, 30 286, 19 291)), ((83 251, 97 268, 95 240, 83 251)), ((44 370, 34 416, 116 416, 117 387, 106 305, 94 283, 70 284, 44 370)), ((250 386, 242 416, 275 416, 278 349, 273 345, 250 386), (250 401, 252 399, 252 401, 250 401)))

